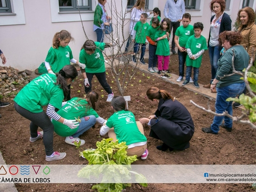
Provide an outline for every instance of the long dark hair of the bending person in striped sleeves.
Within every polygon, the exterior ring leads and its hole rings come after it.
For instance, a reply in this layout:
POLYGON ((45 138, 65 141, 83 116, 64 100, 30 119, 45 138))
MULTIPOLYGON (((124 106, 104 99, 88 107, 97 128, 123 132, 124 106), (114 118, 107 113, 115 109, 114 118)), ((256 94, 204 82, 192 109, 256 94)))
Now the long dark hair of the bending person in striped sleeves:
POLYGON ((64 96, 66 98, 69 89, 67 86, 67 79, 71 78, 71 80, 77 77, 78 73, 74 66, 66 65, 62 69, 60 69, 59 73, 56 74, 57 82, 56 85, 59 85, 60 88, 63 90, 64 96))

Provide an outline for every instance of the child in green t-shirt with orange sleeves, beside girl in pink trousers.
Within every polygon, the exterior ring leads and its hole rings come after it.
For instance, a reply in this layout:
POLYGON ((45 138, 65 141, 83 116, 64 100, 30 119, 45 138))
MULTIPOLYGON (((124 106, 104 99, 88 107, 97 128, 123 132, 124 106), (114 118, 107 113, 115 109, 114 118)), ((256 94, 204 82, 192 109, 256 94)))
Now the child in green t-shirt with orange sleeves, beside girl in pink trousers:
POLYGON ((149 26, 146 37, 149 42, 148 46, 148 53, 149 53, 149 59, 148 59, 148 71, 151 73, 157 73, 158 69, 156 67, 157 65, 157 55, 156 55, 156 45, 157 42, 154 41, 156 31, 159 28, 159 20, 158 18, 153 18, 152 20, 152 25, 149 26))

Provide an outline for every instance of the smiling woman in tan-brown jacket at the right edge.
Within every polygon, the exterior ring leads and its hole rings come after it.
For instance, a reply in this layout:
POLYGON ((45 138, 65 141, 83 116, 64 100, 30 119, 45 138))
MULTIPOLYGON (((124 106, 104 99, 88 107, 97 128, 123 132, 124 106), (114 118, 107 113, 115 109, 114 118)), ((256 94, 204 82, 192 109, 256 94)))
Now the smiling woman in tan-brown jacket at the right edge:
MULTIPOLYGON (((241 45, 247 51, 250 59, 255 60, 256 51, 256 25, 255 25, 255 12, 251 7, 244 7, 237 13, 236 22, 239 23, 238 31, 243 36, 241 45)), ((246 87, 243 91, 246 93, 246 87)), ((234 102, 234 107, 240 107, 242 104, 234 102)))

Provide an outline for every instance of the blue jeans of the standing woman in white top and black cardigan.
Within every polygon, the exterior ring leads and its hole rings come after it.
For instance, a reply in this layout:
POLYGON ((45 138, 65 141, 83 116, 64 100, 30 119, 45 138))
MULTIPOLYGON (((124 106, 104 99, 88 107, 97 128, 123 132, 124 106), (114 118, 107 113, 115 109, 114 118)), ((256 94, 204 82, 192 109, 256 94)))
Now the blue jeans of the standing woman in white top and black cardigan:
POLYGON ((212 67, 212 78, 210 83, 212 83, 213 79, 216 76, 217 69, 218 69, 218 60, 220 59, 220 50, 219 50, 219 45, 217 46, 210 46, 209 45, 209 57, 210 57, 210 63, 212 67))

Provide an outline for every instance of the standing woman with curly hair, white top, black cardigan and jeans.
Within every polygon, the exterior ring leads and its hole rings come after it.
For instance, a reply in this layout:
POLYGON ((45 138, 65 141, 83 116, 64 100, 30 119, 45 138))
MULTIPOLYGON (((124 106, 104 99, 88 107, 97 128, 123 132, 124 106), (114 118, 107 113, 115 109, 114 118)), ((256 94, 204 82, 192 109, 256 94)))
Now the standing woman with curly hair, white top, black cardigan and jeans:
MULTIPOLYGON (((210 9, 215 13, 215 15, 212 15, 211 17, 211 26, 208 39, 212 78, 209 84, 203 86, 209 89, 213 79, 215 78, 218 69, 217 63, 221 57, 220 51, 222 49, 222 45, 220 45, 218 41, 219 34, 225 30, 231 30, 231 19, 227 13, 224 13, 225 8, 225 0, 212 0, 210 3, 210 9)), ((216 90, 212 90, 212 92, 216 93, 216 90)))

